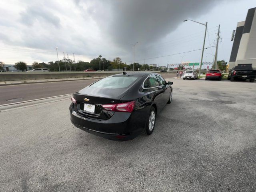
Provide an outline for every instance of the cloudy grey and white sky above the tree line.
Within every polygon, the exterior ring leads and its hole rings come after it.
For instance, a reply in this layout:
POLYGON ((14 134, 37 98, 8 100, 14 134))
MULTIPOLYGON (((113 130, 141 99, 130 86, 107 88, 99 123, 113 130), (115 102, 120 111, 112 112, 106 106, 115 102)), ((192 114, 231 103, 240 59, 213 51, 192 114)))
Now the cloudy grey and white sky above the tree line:
MULTIPOLYGON (((1 0, 0 61, 55 61, 58 47, 60 59, 65 52, 75 60, 102 55, 130 64, 131 44, 138 42, 139 63, 163 66, 182 56, 183 62, 199 62, 201 50, 192 50, 202 48, 205 28, 185 19, 208 22, 206 47, 214 46, 220 24, 218 59, 228 61, 232 30, 255 6, 254 0, 1 0)), ((212 62, 214 54, 208 48, 203 61, 212 62)))

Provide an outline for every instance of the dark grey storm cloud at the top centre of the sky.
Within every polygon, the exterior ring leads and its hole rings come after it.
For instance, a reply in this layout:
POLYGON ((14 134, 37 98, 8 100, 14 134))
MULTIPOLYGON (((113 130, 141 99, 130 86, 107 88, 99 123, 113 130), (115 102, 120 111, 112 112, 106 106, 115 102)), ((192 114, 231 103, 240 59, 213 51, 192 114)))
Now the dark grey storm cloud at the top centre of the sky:
MULTIPOLYGON (((130 43, 137 41, 144 45, 156 42, 174 31, 183 20, 201 16, 213 8, 216 2, 221 1, 98 1, 87 11, 90 11, 106 38, 111 38, 122 48, 130 49, 130 43)), ((82 0, 76 1, 78 5, 82 2, 82 0)))

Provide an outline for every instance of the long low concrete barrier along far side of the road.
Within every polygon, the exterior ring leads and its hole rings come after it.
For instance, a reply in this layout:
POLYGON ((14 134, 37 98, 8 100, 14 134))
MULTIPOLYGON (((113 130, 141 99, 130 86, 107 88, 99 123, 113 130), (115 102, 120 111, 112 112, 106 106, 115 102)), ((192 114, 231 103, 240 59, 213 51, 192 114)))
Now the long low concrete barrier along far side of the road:
MULTIPOLYGON (((127 71, 127 73, 132 71, 127 71)), ((138 71, 143 72, 143 71, 138 71)), ((159 71, 148 71, 159 72, 159 71)), ((1 72, 0 81, 38 80, 38 79, 61 79, 82 77, 106 77, 122 72, 1 72)), ((168 72, 169 73, 169 72, 168 72)), ((172 73, 172 72, 170 72, 172 73)))

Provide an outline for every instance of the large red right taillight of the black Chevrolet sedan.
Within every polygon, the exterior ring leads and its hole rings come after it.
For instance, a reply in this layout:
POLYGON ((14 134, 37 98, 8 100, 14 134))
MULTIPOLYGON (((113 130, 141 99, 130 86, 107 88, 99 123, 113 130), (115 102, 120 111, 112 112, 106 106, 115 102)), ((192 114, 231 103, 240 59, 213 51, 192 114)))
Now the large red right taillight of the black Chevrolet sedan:
POLYGON ((135 101, 127 103, 118 103, 118 104, 104 104, 102 108, 108 111, 117 111, 117 112, 132 112, 135 106, 135 101))

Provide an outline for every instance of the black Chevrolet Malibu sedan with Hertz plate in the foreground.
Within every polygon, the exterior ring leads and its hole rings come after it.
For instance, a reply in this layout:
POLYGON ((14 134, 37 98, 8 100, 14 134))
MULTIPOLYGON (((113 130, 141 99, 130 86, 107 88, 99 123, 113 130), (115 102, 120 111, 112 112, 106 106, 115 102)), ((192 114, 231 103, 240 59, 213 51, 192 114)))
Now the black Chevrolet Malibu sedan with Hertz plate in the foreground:
POLYGON ((111 140, 131 140, 154 131, 156 115, 172 101, 172 82, 156 73, 112 75, 73 94, 71 122, 111 140))

